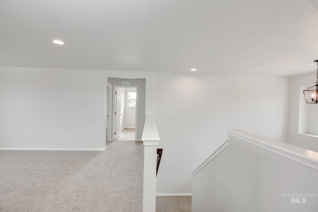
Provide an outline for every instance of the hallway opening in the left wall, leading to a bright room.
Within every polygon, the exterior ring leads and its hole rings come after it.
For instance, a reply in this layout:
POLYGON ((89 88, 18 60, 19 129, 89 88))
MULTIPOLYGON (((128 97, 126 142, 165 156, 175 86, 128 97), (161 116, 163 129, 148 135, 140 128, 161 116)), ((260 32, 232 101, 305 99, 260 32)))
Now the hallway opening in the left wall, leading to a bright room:
MULTIPOLYGON (((118 134, 120 136, 124 129, 125 133, 129 131, 131 134, 134 128, 135 139, 130 140, 142 141, 146 119, 146 79, 108 77, 106 95, 106 141, 114 141, 116 139, 115 133, 116 136, 118 134), (117 91, 119 91, 120 97, 116 96, 117 91), (116 102, 121 108, 115 105, 116 102)), ((124 138, 124 135, 122 137, 124 138)))

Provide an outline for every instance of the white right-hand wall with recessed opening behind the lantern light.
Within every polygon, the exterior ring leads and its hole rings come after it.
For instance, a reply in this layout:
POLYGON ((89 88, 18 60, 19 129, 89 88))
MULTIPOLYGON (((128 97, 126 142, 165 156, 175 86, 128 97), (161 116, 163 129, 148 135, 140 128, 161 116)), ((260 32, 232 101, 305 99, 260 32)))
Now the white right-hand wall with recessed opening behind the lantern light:
MULTIPOLYGON (((303 97, 304 95, 301 92, 300 87, 314 85, 317 79, 316 74, 317 74, 316 72, 312 72, 312 73, 301 74, 297 76, 291 76, 290 78, 288 143, 318 152, 318 138, 306 136, 306 135, 302 135, 298 133, 299 117, 300 117, 299 108, 300 106, 302 107, 307 106, 305 97, 303 97)), ((309 108, 310 109, 309 111, 311 111, 310 114, 315 115, 315 113, 313 113, 312 110, 315 110, 316 108, 316 113, 317 113, 318 104, 310 104, 308 106, 310 106, 309 108)), ((305 112, 305 114, 307 113, 308 112, 305 112)), ((302 115, 305 116, 305 114, 302 114, 302 115)), ((302 126, 304 128, 307 128, 308 120, 303 120, 303 122, 304 123, 302 123, 302 126)), ((313 124, 315 123, 316 123, 316 126, 318 126, 317 116, 316 116, 316 121, 314 120, 313 124)), ((310 128, 308 129, 313 131, 310 128)))

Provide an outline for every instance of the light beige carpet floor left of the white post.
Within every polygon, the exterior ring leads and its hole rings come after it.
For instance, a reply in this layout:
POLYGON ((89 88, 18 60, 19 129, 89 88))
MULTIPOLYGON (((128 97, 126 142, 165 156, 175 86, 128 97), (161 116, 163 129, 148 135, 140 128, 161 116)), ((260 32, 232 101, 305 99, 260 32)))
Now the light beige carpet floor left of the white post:
POLYGON ((0 150, 0 212, 142 212, 143 165, 127 135, 105 151, 0 150))

